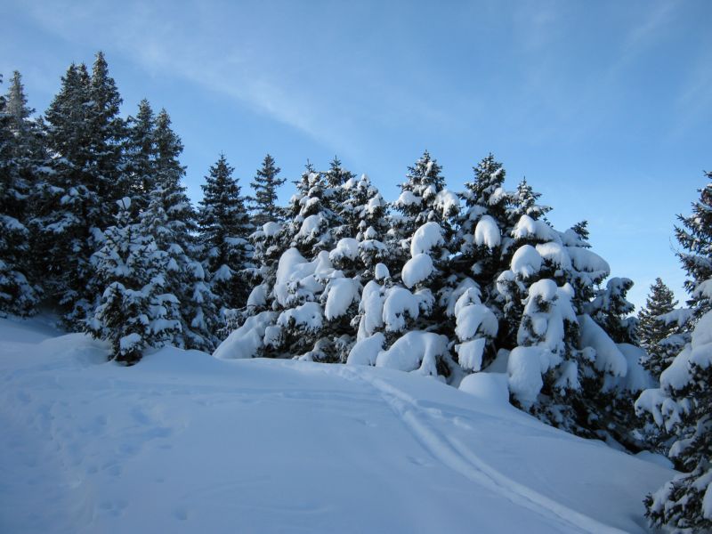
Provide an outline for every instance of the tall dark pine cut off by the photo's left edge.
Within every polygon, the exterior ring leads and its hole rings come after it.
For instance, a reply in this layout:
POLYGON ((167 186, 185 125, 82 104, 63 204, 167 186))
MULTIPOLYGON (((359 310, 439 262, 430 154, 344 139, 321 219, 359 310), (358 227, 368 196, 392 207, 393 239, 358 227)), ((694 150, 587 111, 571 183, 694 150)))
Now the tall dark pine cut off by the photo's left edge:
POLYGON ((7 97, 0 96, 0 314, 28 315, 38 301, 38 288, 28 281, 26 222, 34 163, 30 114, 15 72, 7 97))

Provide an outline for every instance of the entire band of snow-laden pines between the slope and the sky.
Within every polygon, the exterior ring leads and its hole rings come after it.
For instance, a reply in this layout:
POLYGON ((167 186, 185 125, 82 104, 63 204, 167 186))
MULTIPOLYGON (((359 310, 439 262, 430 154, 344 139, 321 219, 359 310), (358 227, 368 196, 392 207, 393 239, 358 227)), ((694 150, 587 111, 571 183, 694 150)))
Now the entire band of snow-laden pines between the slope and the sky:
POLYGON ((42 117, 14 73, 0 98, 0 313, 57 310, 126 365, 174 344, 456 386, 506 372, 515 406, 684 470, 646 498, 652 523, 712 528, 712 184, 676 228, 687 307, 657 279, 635 317, 632 280, 609 278, 587 223, 555 230, 492 154, 453 192, 425 151, 392 203, 338 158, 307 163, 287 206, 271 155, 246 196, 221 154, 196 208, 166 110, 144 100, 124 119, 121 103, 102 53, 91 72, 69 66, 42 117))

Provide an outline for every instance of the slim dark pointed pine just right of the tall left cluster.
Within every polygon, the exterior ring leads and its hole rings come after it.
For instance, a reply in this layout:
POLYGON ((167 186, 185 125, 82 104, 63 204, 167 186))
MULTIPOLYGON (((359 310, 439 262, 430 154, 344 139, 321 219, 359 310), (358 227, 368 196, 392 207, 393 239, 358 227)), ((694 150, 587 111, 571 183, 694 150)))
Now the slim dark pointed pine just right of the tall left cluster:
POLYGON ((221 154, 202 186, 204 197, 198 214, 203 266, 212 277, 211 287, 221 306, 229 309, 247 303, 244 270, 250 254, 247 238, 252 233, 233 170, 221 154))

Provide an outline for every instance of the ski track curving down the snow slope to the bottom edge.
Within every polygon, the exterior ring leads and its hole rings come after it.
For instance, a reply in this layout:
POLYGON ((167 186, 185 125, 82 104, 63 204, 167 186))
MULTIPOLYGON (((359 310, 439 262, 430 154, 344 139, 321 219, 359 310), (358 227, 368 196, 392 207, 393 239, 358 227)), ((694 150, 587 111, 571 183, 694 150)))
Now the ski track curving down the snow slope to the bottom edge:
POLYGON ((570 507, 562 505, 536 490, 513 481, 505 474, 499 473, 480 457, 477 457, 472 450, 466 448, 461 441, 449 438, 434 429, 432 425, 428 425, 426 419, 430 417, 429 414, 424 409, 421 409, 417 405, 417 399, 408 393, 401 391, 392 384, 388 384, 383 379, 361 376, 352 371, 352 369, 345 367, 344 370, 347 371, 342 373, 344 378, 365 382, 375 389, 424 449, 443 465, 449 466, 453 471, 496 491, 514 504, 523 506, 545 517, 552 518, 553 516, 555 519, 564 522, 568 527, 576 530, 595 532, 596 534, 600 532, 611 534, 626 533, 625 530, 598 522, 586 514, 572 510, 570 507))

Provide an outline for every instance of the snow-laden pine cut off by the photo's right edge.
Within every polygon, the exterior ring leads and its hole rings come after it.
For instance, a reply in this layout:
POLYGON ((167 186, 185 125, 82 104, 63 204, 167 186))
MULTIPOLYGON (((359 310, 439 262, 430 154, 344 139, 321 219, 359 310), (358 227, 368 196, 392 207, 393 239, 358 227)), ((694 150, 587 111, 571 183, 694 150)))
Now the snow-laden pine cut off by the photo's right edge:
POLYGON ((712 530, 712 182, 699 192, 692 215, 678 215, 683 227, 675 230, 689 277, 691 343, 662 372, 660 387, 635 402, 639 414, 674 436, 668 455, 684 472, 645 498, 645 514, 651 526, 691 532, 712 530))

